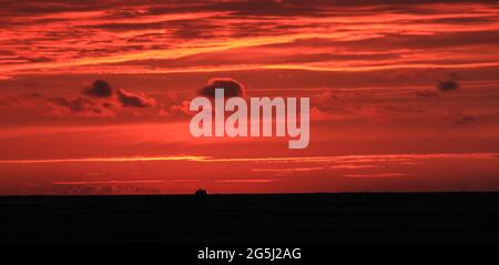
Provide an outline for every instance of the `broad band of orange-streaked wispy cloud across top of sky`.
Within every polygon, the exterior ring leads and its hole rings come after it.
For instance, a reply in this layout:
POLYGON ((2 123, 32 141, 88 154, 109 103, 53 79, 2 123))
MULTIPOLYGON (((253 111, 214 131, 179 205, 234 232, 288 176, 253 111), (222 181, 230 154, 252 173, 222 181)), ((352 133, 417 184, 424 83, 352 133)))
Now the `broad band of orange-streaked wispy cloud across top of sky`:
POLYGON ((470 48, 498 49, 493 37, 498 7, 487 1, 340 6, 262 1, 259 8, 251 1, 139 6, 123 1, 98 7, 53 3, 51 9, 14 2, 0 13, 3 77, 497 65, 493 52, 481 54, 470 48), (24 49, 28 45, 37 49, 24 49), (359 57, 387 49, 393 57, 359 57))

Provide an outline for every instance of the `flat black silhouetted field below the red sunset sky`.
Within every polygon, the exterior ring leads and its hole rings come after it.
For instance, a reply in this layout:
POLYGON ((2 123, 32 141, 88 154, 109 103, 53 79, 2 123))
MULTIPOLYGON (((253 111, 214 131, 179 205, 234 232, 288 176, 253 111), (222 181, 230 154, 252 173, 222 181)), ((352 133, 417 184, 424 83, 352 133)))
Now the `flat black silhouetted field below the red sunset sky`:
POLYGON ((499 193, 3 196, 0 242, 498 242, 499 193))

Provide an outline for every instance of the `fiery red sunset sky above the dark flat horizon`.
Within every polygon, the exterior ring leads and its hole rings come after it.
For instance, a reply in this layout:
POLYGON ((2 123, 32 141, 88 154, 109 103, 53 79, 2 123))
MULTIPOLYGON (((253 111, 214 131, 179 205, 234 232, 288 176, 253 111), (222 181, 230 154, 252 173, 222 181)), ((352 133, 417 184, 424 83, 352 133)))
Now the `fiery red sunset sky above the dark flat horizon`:
POLYGON ((495 1, 0 1, 0 194, 499 191, 495 1), (308 147, 193 137, 221 79, 308 147))

